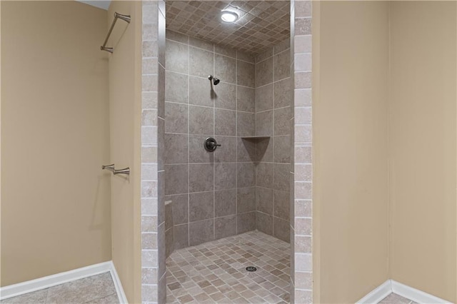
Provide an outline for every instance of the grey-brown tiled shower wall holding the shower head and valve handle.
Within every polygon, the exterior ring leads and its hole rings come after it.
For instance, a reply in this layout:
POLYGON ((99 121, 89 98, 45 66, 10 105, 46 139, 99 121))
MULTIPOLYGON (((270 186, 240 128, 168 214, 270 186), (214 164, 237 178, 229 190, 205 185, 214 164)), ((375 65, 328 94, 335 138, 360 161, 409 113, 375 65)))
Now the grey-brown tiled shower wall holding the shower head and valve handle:
POLYGON ((166 32, 165 174, 174 249, 256 228, 255 146, 241 139, 255 133, 255 85, 252 56, 166 32), (209 74, 221 83, 212 86, 209 74), (204 150, 210 136, 221 144, 214 153, 204 150))

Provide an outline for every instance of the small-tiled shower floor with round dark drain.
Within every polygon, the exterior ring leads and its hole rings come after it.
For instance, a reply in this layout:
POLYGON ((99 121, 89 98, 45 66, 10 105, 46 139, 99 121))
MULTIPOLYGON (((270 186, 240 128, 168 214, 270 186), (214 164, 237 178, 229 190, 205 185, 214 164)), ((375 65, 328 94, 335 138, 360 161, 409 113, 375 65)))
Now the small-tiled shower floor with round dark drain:
POLYGON ((289 303, 290 245, 258 231, 175 250, 166 303, 289 303), (256 272, 248 272, 247 266, 256 272))

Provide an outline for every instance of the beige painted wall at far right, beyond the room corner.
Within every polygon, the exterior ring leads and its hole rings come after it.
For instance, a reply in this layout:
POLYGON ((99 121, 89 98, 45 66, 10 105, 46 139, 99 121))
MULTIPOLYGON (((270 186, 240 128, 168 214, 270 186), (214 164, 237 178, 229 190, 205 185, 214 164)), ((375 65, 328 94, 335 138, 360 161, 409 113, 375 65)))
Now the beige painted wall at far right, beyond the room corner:
POLYGON ((391 278, 456 302, 456 2, 391 4, 391 278))

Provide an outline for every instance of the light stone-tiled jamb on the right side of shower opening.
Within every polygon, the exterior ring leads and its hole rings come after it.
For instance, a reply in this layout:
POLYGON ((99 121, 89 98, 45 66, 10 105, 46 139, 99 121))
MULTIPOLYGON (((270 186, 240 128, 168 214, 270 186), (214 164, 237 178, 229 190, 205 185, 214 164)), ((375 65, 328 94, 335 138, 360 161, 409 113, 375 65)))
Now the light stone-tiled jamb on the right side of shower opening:
POLYGON ((291 1, 291 67, 294 83, 291 303, 313 303, 311 4, 311 1, 291 1))

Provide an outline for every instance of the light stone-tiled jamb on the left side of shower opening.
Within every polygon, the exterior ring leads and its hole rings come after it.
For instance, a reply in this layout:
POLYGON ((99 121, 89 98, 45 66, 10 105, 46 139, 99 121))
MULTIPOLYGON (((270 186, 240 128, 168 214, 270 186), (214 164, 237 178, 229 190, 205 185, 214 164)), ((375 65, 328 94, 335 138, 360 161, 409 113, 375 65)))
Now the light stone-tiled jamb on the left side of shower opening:
POLYGON ((141 303, 165 303, 165 2, 141 1, 140 9, 141 303))

